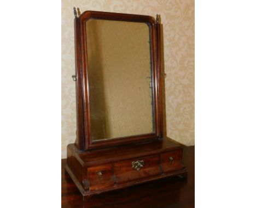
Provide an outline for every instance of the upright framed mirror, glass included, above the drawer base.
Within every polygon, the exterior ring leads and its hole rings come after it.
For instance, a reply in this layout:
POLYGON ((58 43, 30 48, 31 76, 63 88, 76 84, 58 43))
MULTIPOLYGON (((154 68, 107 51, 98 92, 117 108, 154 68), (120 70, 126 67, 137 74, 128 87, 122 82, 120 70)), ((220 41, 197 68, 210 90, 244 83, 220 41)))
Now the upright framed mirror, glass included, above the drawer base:
POLYGON ((144 15, 85 11, 75 18, 79 150, 161 137, 154 25, 144 15))

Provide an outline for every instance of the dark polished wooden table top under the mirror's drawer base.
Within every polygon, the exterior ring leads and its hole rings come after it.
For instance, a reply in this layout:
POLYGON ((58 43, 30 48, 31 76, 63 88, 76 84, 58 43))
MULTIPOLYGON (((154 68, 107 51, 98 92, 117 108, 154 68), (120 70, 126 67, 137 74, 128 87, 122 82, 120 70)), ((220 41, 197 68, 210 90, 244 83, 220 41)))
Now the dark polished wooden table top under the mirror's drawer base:
POLYGON ((161 179, 117 191, 84 198, 65 170, 61 160, 61 207, 194 207, 195 206, 195 148, 185 146, 183 162, 188 178, 161 179))

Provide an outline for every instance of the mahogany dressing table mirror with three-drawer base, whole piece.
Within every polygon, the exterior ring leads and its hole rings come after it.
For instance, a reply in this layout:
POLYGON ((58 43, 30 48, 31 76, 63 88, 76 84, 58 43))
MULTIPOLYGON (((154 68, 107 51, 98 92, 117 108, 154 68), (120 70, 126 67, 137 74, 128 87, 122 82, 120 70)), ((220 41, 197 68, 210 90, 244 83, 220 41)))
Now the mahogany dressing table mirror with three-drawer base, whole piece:
POLYGON ((185 176, 163 136, 158 16, 74 8, 77 138, 66 170, 84 196, 185 176))

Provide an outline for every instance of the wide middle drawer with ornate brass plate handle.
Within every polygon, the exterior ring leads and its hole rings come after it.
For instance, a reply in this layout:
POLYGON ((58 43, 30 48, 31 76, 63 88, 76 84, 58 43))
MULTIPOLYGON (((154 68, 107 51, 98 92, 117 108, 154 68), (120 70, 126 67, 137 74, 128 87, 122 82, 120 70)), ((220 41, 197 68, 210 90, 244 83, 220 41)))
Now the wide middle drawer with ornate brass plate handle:
POLYGON ((125 183, 161 174, 160 157, 135 158, 114 164, 117 183, 125 183))

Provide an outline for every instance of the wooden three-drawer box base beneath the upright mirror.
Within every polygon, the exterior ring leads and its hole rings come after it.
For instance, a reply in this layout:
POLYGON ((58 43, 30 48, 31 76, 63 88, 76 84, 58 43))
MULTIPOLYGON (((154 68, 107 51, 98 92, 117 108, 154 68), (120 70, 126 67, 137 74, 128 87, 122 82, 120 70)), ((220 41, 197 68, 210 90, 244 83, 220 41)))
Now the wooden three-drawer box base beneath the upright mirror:
POLYGON ((86 152, 69 144, 66 170, 82 195, 89 196, 174 175, 187 176, 182 152, 182 146, 167 138, 86 152))

